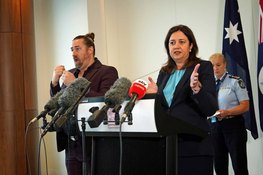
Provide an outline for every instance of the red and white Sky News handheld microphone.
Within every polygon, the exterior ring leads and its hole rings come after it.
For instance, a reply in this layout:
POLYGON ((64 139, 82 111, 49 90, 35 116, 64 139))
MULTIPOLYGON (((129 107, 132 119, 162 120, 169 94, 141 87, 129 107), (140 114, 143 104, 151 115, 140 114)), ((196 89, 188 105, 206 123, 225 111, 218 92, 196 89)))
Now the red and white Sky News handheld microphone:
POLYGON ((148 83, 142 79, 137 79, 129 90, 130 101, 124 108, 124 113, 121 118, 121 124, 125 121, 126 117, 132 112, 136 100, 140 100, 145 94, 148 88, 148 83))

